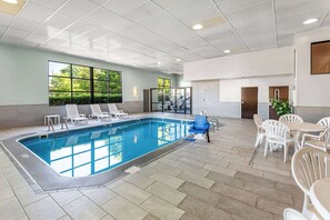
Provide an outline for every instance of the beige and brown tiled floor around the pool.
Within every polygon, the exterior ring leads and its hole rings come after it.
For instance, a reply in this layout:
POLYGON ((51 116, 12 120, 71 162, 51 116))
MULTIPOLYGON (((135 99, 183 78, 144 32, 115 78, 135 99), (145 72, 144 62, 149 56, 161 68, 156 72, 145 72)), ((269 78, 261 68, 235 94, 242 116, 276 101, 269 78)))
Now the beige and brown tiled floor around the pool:
MULTIPOLYGON (((0 149, 0 219, 277 220, 284 208, 301 210, 290 159, 283 163, 282 152, 252 158, 253 122, 221 121, 211 143, 184 146, 101 188, 36 194, 0 149)), ((2 130, 1 137, 30 131, 2 130)))

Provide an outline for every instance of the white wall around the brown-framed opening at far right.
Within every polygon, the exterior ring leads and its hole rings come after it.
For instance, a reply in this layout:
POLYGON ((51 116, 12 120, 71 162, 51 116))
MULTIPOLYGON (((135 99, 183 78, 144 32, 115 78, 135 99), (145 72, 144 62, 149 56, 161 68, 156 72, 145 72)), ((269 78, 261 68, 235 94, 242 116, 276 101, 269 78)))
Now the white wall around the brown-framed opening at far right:
POLYGON ((321 28, 296 36, 297 106, 330 107, 330 74, 311 74, 311 42, 330 40, 330 28, 321 28))

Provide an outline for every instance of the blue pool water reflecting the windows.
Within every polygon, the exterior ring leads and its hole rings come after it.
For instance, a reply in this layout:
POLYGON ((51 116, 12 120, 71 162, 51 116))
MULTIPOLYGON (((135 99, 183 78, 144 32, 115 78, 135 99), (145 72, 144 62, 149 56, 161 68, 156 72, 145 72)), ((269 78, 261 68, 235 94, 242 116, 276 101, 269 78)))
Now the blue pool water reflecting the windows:
POLYGON ((71 131, 68 136, 20 140, 64 177, 100 173, 188 134, 187 121, 141 119, 111 127, 71 131))

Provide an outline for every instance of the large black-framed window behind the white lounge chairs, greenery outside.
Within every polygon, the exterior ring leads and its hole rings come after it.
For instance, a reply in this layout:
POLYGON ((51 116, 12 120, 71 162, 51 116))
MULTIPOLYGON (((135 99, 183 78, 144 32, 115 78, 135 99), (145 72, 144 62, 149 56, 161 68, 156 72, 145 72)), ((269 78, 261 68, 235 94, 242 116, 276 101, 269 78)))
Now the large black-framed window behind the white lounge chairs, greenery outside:
POLYGON ((49 106, 122 102, 121 72, 49 61, 49 106))

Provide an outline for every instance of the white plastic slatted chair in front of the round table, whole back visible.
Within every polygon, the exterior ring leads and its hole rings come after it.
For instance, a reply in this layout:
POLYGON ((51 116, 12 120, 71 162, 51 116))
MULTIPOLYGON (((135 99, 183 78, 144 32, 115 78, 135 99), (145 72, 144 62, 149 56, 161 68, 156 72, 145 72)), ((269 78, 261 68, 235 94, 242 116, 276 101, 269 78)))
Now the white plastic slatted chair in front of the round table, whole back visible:
POLYGON ((262 128, 266 131, 264 157, 267 156, 268 148, 272 150, 273 146, 284 147, 284 162, 287 162, 289 144, 293 142, 290 137, 289 128, 276 120, 266 120, 262 122, 262 128))

